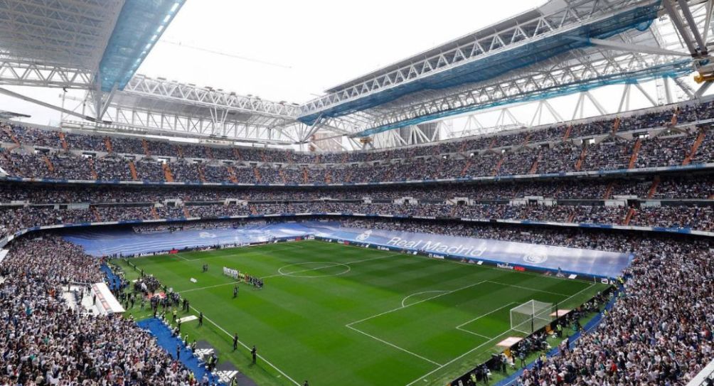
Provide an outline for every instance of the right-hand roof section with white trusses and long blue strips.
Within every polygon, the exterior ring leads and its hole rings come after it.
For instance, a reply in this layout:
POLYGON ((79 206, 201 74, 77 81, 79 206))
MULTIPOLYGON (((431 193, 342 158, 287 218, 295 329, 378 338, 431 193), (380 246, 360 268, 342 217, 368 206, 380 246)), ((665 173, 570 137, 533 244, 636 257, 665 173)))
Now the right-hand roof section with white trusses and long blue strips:
MULTIPOLYGON (((528 101, 613 82, 656 76, 682 76, 691 72, 691 61, 673 57, 668 59, 667 63, 660 61, 655 66, 648 66, 646 71, 621 71, 619 76, 610 73, 589 79, 576 79, 573 82, 558 81, 547 89, 522 92, 498 98, 497 101, 478 101, 478 98, 472 97, 470 103, 448 103, 450 106, 447 108, 433 111, 425 109, 423 113, 410 117, 374 119, 375 116, 384 116, 380 107, 389 106, 392 111, 395 110, 399 104, 393 103, 395 101, 400 101, 402 105, 415 101, 426 103, 423 96, 431 95, 433 91, 455 90, 463 88, 462 86, 474 88, 478 87, 480 82, 491 81, 508 73, 515 75, 513 81, 516 81, 516 78, 521 76, 519 73, 525 73, 529 66, 563 57, 562 54, 582 50, 590 55, 593 50, 585 50, 595 46, 593 39, 600 41, 623 35, 627 36, 629 41, 638 39, 640 44, 660 47, 654 34, 638 32, 648 31, 659 16, 661 6, 660 0, 550 1, 538 9, 524 12, 333 87, 325 96, 306 103, 299 120, 313 125, 328 118, 352 115, 360 116, 363 120, 368 116, 370 122, 367 125, 356 123, 358 119, 352 122, 353 126, 356 126, 353 131, 360 136, 366 136, 463 113, 470 109, 528 101), (456 106, 457 104, 461 106, 456 106), (364 113, 358 114, 361 112, 364 113)), ((596 51, 595 54, 601 56, 596 51)), ((658 54, 668 53, 662 50, 658 54)), ((567 56, 563 57, 563 61, 565 60, 567 56)))

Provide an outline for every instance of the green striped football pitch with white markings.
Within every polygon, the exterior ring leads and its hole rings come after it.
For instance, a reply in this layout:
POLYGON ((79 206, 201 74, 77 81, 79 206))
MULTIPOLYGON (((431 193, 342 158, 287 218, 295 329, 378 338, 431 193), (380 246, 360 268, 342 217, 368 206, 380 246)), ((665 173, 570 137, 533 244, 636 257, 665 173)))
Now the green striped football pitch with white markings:
POLYGON ((131 261, 187 298, 192 314, 203 312, 203 327, 181 326, 190 340, 206 340, 258 385, 446 385, 501 352, 502 340, 523 336, 511 330, 511 308, 540 300, 573 309, 606 288, 316 240, 131 261), (265 287, 241 284, 233 298, 223 267, 265 287))

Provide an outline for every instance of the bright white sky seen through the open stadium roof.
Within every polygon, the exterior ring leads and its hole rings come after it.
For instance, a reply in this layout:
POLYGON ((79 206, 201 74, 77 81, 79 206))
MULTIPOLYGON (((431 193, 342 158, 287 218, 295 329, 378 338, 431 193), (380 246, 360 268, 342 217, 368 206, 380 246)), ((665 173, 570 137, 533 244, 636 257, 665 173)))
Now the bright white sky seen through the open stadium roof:
MULTIPOLYGON (((543 4, 543 0, 188 0, 138 73, 273 101, 326 88, 543 4)), ((13 91, 61 104, 59 89, 13 91)), ((82 98, 84 91, 68 93, 82 98)), ((74 108, 78 102, 66 100, 74 108)), ((59 113, 9 96, 0 109, 57 125, 59 113)))

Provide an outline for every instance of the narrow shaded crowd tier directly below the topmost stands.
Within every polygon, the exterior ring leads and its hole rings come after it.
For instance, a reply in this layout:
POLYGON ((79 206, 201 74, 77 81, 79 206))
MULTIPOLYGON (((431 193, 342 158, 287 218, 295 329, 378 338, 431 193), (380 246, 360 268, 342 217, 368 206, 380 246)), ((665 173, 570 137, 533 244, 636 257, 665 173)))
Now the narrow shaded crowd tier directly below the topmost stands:
POLYGON ((0 189, 0 204, 68 204, 68 203, 185 203, 248 200, 275 202, 295 200, 363 200, 374 201, 414 198, 416 200, 464 199, 478 201, 513 200, 528 196, 558 200, 604 200, 615 196, 640 199, 714 198, 714 176, 643 176, 627 180, 557 180, 499 181, 498 183, 452 183, 413 186, 350 187, 220 187, 220 186, 98 186, 55 185, 46 183, 5 183, 0 189), (655 183, 656 181, 656 183, 655 183), (653 188, 654 186, 654 188, 653 188))

